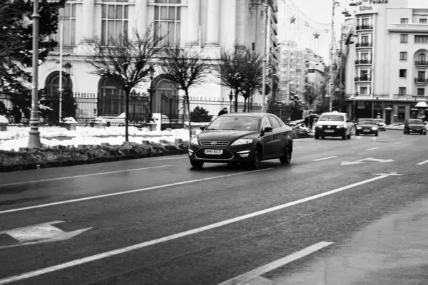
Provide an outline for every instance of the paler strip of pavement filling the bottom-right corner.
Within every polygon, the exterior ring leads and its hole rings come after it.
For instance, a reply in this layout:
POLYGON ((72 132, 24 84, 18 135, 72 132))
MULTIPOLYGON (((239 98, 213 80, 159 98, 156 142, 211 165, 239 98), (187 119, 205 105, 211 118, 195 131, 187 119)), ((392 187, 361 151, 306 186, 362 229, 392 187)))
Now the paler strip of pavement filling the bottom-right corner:
POLYGON ((379 219, 329 257, 275 284, 428 284, 428 199, 379 219))

